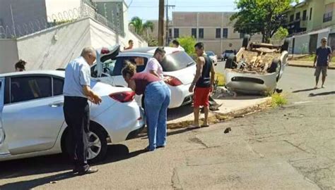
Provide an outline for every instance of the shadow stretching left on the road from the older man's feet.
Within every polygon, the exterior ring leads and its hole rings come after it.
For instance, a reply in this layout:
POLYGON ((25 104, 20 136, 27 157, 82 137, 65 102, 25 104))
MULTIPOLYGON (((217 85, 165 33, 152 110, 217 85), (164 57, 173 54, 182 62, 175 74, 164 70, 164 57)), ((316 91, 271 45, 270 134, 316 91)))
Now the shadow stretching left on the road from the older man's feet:
POLYGON ((27 180, 27 181, 22 181, 22 182, 13 182, 13 183, 9 183, 9 184, 4 184, 3 186, 0 186, 1 190, 11 190, 11 189, 33 189, 37 186, 41 186, 43 184, 49 184, 52 182, 58 182, 61 181, 63 179, 69 179, 72 177, 76 177, 76 175, 74 175, 72 172, 64 172, 64 173, 60 173, 57 175, 50 175, 47 177, 41 177, 41 178, 37 178, 37 179, 31 179, 31 180, 27 180))

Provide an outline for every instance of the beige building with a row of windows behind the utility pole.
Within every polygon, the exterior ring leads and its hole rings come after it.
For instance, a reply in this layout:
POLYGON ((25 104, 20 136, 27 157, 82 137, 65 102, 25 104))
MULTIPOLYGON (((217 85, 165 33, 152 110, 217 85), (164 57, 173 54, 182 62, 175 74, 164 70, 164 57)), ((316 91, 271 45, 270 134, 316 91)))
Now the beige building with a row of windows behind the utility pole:
MULTIPOLYGON (((225 50, 238 50, 245 34, 234 31, 230 21, 233 12, 172 12, 169 38, 192 36, 197 42, 204 42, 208 51, 219 57, 225 50)), ((254 34, 253 41, 261 42, 261 35, 254 34)))

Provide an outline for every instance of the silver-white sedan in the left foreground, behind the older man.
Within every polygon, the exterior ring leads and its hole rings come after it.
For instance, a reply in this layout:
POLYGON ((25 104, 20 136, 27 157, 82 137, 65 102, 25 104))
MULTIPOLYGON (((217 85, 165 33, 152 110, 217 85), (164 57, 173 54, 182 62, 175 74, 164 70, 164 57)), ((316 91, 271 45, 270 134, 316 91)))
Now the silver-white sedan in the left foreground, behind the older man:
MULTIPOLYGON (((63 113, 64 71, 40 70, 0 75, 0 160, 69 153, 63 113)), ((143 110, 129 88, 91 81, 102 97, 90 103, 88 160, 102 160, 107 143, 134 137, 145 125, 143 110)))

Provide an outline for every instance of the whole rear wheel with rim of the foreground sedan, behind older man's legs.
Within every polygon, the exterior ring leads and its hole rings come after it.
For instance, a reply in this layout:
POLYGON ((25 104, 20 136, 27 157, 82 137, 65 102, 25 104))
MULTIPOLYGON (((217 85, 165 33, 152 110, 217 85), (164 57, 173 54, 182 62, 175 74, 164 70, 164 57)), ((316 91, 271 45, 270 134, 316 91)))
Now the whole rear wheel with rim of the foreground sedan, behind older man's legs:
MULTIPOLYGON (((66 156, 71 156, 71 135, 69 130, 62 139, 62 151, 66 156)), ((91 122, 90 132, 88 132, 88 155, 89 163, 98 163, 103 160, 107 154, 107 136, 100 126, 91 122)))

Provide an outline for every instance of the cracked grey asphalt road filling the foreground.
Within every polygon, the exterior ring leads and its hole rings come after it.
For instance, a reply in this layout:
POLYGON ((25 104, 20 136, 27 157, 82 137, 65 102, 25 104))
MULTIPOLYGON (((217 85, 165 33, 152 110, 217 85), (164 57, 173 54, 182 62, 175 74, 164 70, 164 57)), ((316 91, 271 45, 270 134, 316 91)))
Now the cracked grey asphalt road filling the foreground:
POLYGON ((316 90, 312 74, 286 68, 282 108, 169 131, 150 153, 146 137, 109 146, 93 175, 71 175, 59 155, 2 162, 0 189, 335 189, 335 72, 316 90))

